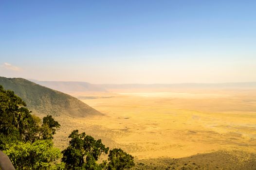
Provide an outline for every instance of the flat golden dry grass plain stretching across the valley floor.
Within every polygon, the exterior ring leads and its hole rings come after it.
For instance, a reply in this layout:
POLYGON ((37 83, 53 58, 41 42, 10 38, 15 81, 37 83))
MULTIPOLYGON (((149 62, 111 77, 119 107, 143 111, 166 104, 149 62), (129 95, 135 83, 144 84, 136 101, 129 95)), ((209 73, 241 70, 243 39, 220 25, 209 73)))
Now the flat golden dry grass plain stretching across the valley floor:
POLYGON ((255 89, 111 91, 71 94, 105 116, 56 118, 62 127, 55 145, 66 147, 67 136, 78 129, 144 162, 219 152, 241 165, 255 161, 255 89))

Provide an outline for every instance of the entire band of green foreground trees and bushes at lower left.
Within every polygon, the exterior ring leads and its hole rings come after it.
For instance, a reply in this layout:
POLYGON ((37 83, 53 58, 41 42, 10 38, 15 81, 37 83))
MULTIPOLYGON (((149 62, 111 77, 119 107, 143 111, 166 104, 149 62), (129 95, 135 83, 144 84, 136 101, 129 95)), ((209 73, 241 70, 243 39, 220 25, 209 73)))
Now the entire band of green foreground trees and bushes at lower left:
POLYGON ((58 128, 60 124, 52 116, 41 122, 21 98, 0 85, 0 150, 17 170, 128 170, 134 166, 133 157, 121 149, 110 150, 108 161, 99 163, 109 148, 78 130, 61 152, 52 141, 58 128))

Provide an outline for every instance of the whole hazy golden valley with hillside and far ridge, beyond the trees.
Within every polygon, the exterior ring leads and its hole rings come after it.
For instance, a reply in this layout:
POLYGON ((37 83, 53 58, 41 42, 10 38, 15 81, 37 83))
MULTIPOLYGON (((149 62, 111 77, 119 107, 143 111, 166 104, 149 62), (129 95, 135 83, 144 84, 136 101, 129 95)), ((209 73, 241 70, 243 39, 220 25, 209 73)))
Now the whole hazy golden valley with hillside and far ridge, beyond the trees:
POLYGON ((61 128, 54 142, 60 149, 78 129, 133 155, 138 170, 256 166, 255 83, 44 83, 69 95, 20 78, 0 77, 0 84, 21 96, 37 116, 55 113, 61 128))

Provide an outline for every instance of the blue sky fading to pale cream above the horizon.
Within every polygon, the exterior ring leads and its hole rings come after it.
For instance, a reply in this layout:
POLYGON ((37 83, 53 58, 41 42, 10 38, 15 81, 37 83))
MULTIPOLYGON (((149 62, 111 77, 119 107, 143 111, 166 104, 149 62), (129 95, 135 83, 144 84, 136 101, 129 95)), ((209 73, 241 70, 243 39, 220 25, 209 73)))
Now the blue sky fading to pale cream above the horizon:
POLYGON ((256 81, 256 0, 0 0, 0 76, 256 81))

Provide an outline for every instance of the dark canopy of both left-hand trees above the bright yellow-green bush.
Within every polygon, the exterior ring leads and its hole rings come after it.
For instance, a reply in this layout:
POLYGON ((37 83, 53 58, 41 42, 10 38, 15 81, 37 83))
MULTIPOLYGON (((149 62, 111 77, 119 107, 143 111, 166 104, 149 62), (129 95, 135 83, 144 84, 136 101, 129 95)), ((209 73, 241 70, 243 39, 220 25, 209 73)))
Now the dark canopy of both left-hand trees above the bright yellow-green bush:
MULTIPOLYGON (((31 115, 24 101, 0 85, 0 139, 11 136, 11 139, 5 140, 31 143, 37 139, 52 139, 60 124, 51 115, 43 118, 41 126, 40 122, 37 116, 31 115)), ((0 141, 0 149, 1 145, 0 141)))

